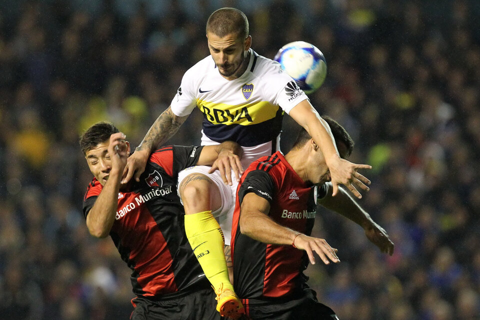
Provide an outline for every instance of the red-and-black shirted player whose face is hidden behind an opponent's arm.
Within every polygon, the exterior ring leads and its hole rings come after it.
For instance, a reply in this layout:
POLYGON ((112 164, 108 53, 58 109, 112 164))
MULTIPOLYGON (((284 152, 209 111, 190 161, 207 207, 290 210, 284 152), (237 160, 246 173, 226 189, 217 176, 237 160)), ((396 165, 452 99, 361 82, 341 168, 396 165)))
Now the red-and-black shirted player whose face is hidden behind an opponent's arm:
MULTIPOLYGON (((342 157, 353 141, 331 118, 329 124, 342 157)), ((356 172, 362 183, 369 181, 356 172)), ((309 236, 316 206, 322 204, 365 229, 382 252, 392 254, 386 232, 346 193, 332 197, 330 173, 318 145, 302 129, 292 149, 252 162, 243 173, 233 213, 231 255, 233 285, 247 315, 257 319, 338 319, 318 302, 303 270, 315 263, 313 251, 325 264, 339 262, 336 249, 309 236)))

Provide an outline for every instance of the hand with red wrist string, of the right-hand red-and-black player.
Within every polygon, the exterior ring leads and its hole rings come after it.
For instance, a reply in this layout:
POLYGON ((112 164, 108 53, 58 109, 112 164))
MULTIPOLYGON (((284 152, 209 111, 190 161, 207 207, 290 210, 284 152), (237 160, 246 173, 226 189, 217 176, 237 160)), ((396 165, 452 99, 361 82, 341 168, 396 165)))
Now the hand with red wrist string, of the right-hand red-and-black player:
POLYGON ((308 255, 308 259, 311 264, 315 264, 315 257, 313 256, 313 251, 318 254, 318 256, 323 260, 323 263, 329 264, 330 259, 332 262, 338 263, 340 259, 336 256, 335 248, 332 248, 325 239, 315 238, 313 236, 308 236, 303 233, 300 233, 293 240, 293 245, 300 250, 305 250, 308 255))

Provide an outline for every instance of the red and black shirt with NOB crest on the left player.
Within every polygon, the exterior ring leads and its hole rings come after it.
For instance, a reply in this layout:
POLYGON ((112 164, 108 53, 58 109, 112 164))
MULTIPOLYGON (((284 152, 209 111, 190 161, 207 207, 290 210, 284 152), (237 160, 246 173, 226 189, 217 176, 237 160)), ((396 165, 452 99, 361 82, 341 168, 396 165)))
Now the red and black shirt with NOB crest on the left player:
MULTIPOLYGON (((184 228, 184 211, 176 192, 178 172, 196 164, 202 147, 165 146, 153 152, 140 181, 118 193, 110 236, 131 268, 133 292, 169 297, 205 281, 184 228)), ((83 199, 83 214, 102 189, 93 179, 83 199)), ((206 281, 205 281, 206 282, 206 281)))

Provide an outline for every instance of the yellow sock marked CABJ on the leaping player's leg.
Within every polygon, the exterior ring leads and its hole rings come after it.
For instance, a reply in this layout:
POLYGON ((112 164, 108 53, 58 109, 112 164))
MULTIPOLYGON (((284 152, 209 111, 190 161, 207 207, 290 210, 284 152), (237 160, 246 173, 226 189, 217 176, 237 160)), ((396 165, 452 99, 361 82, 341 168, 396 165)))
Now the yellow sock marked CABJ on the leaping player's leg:
POLYGON ((205 276, 215 290, 223 283, 224 288, 233 291, 223 253, 223 233, 211 211, 185 214, 185 233, 205 276))

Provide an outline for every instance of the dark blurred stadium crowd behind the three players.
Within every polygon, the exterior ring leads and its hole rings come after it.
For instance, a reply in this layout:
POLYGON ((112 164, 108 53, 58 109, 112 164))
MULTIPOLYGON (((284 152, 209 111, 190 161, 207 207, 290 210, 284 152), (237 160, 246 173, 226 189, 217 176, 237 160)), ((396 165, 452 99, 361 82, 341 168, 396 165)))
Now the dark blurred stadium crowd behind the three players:
MULTIPOLYGON (((320 48, 311 102, 350 132, 350 160, 373 166, 359 203, 395 252, 318 209, 314 234, 341 260, 309 266, 319 300, 341 320, 480 318, 477 0, 0 0, 0 318, 128 318, 130 270, 81 213, 92 176, 78 135, 109 120, 138 145, 208 54, 221 6, 247 14, 266 57, 320 48)), ((195 110, 168 143, 198 144, 200 122, 195 110)), ((286 115, 284 152, 297 130, 286 115)))

